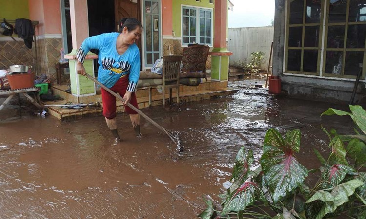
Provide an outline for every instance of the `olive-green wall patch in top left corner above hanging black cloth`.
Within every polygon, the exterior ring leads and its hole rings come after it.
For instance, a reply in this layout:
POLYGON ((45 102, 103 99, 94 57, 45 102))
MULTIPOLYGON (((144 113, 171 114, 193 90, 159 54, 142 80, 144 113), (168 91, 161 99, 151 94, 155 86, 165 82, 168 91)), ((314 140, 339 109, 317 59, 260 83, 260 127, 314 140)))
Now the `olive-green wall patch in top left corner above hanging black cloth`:
POLYGON ((28 0, 0 0, 0 19, 15 20, 16 18, 29 19, 28 0))

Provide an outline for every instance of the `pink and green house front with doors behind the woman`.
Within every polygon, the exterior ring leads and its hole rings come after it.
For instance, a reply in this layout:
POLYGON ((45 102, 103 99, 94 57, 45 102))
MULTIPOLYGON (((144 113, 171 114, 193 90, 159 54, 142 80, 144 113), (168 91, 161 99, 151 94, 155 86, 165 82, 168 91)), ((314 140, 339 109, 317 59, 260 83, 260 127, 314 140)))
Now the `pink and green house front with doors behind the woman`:
POLYGON ((137 43, 141 70, 151 68, 160 56, 179 55, 188 44, 201 43, 212 50, 207 61, 211 78, 228 78, 227 11, 233 6, 228 0, 0 0, 0 5, 1 19, 39 22, 32 48, 37 60, 24 55, 10 37, 0 37, 0 47, 7 48, 1 50, 0 68, 38 64, 38 74, 52 76, 61 48, 66 54, 75 52, 86 37, 118 31, 119 20, 132 17, 144 27, 137 43))

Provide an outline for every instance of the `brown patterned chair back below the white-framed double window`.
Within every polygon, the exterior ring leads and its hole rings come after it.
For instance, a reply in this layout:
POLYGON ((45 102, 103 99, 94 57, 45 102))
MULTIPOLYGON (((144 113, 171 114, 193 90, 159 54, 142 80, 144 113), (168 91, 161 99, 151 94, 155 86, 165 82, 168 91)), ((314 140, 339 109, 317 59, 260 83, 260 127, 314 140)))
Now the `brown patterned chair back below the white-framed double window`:
POLYGON ((183 72, 189 73, 203 73, 206 76, 206 62, 210 47, 207 45, 191 45, 183 48, 183 72))

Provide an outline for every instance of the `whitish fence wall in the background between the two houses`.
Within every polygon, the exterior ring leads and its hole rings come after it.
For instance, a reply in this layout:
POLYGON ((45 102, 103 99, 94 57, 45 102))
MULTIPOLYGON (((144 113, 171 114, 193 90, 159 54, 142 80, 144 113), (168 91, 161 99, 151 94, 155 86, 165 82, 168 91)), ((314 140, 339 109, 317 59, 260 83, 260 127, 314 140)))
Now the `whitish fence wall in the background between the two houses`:
POLYGON ((273 27, 242 27, 229 28, 228 50, 233 52, 230 56, 230 66, 241 66, 250 63, 250 53, 264 52, 261 70, 267 71, 271 42, 273 41, 273 27))

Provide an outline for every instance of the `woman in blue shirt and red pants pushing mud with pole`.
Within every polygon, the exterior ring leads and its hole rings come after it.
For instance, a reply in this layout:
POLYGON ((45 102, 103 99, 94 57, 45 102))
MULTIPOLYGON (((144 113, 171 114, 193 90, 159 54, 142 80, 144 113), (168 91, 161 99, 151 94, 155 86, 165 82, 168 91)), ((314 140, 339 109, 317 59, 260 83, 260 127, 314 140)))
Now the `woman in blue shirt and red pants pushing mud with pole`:
MULTIPOLYGON (((119 93, 124 102, 125 111, 130 115, 136 136, 140 137, 140 116, 130 107, 131 103, 138 108, 136 100, 137 82, 140 76, 140 52, 135 42, 140 38, 142 25, 135 18, 121 20, 121 33, 107 33, 86 38, 79 48, 76 57, 78 74, 85 75, 83 62, 91 49, 99 50, 98 81, 112 91, 119 93)), ((101 88, 103 116, 108 128, 112 131, 115 143, 120 142, 117 131, 116 97, 101 88)))

